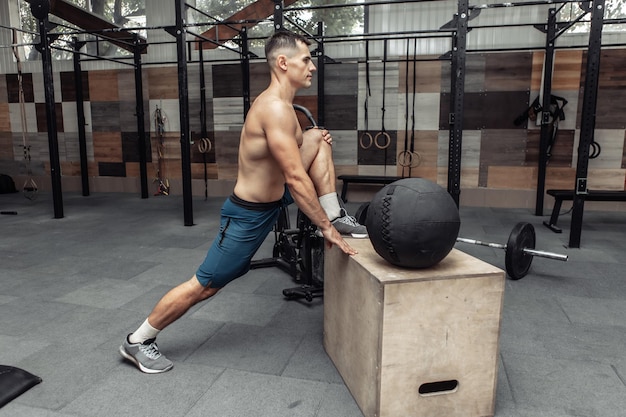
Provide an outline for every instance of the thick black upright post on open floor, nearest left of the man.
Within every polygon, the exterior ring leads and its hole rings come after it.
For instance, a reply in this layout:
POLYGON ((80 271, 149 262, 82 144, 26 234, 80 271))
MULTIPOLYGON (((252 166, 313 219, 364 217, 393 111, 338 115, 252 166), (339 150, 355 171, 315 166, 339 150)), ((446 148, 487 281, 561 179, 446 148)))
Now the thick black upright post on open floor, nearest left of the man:
POLYGON ((189 92, 187 87, 187 50, 185 2, 176 0, 176 53, 178 57, 178 109, 180 113, 180 159, 182 165, 183 212, 185 226, 193 226, 191 189, 191 136, 189 135, 189 92))

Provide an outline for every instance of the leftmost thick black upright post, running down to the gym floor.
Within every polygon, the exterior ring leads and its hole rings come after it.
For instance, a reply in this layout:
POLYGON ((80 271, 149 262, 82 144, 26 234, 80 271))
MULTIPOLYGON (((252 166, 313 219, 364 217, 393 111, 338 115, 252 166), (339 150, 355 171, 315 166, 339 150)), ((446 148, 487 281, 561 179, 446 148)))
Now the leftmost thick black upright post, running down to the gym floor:
POLYGON ((50 151, 50 177, 52 180, 52 200, 54 218, 63 218, 63 191, 61 187, 61 164, 59 162, 59 139, 57 136, 57 116, 54 101, 54 78, 52 75, 52 54, 48 38, 49 1, 38 1, 30 6, 33 16, 37 18, 40 43, 38 45, 43 65, 43 85, 46 98, 46 122, 48 125, 48 148, 50 151))

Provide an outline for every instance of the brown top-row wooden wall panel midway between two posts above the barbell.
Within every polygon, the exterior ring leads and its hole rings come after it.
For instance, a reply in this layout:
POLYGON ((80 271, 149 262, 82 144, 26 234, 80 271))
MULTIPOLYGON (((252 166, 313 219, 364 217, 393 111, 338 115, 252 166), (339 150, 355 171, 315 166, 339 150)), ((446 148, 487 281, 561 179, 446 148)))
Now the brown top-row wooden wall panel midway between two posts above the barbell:
POLYGON ((485 91, 527 90, 531 75, 531 53, 510 52, 485 55, 485 91))

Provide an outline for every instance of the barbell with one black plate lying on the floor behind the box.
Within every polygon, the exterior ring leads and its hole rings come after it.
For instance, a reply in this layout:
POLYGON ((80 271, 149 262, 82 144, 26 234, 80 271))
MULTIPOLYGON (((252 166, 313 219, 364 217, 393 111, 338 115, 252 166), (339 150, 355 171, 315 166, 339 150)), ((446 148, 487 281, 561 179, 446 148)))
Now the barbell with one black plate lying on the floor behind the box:
POLYGON ((488 246, 490 248, 504 249, 504 265, 506 273, 511 279, 518 280, 524 278, 530 270, 533 257, 554 259, 557 261, 567 261, 568 256, 560 253, 546 252, 535 249, 535 228, 532 224, 520 222, 515 225, 506 245, 500 243, 481 242, 476 239, 456 238, 457 242, 469 243, 472 245, 488 246))

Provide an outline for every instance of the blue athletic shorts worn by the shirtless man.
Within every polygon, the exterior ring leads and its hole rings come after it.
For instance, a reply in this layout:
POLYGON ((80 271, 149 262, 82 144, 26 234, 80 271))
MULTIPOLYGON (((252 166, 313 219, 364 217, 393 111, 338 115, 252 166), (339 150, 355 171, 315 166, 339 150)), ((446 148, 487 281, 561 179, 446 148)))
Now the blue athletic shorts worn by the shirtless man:
POLYGON ((231 195, 222 206, 220 230, 198 268, 202 286, 222 288, 250 270, 250 261, 278 219, 281 207, 293 203, 285 187, 281 200, 251 203, 231 195))

